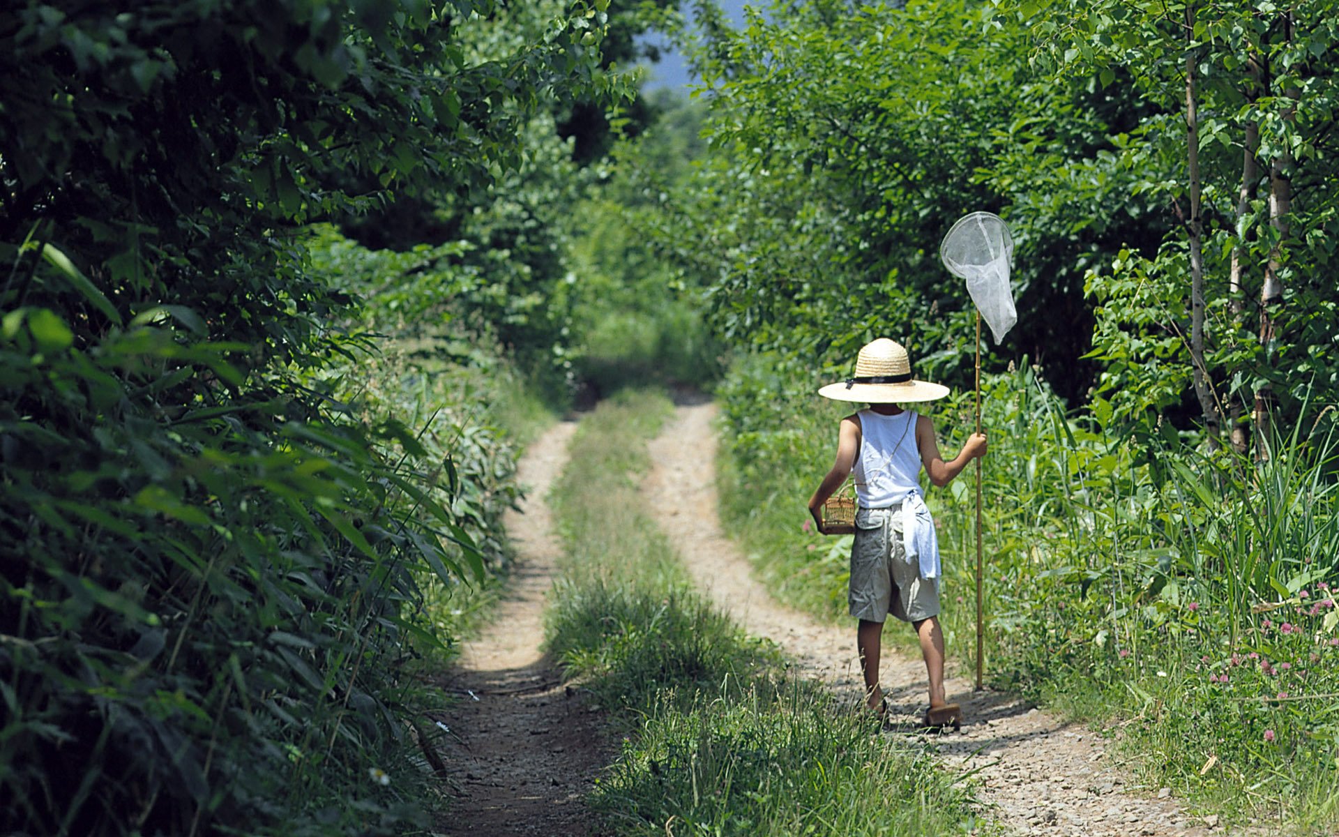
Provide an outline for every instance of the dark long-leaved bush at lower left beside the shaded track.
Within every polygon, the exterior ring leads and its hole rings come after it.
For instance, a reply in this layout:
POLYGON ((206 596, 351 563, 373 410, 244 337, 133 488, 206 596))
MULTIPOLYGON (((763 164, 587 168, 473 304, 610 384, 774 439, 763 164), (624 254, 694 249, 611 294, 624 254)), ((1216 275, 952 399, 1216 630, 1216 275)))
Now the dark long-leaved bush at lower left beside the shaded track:
POLYGON ((407 766, 419 579, 482 566, 449 509, 463 494, 423 487, 441 459, 394 418, 283 390, 234 403, 200 383, 236 375, 218 348, 167 328, 80 351, 43 311, 0 344, 5 829, 307 833, 414 810, 368 771, 407 766))

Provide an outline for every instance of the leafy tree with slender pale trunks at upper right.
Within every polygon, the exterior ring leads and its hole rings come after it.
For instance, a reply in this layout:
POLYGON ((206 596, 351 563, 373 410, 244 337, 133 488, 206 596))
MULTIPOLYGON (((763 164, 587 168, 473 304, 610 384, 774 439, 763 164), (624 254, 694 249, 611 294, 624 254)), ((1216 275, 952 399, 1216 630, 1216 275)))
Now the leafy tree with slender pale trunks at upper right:
POLYGON ((1332 340, 1322 323, 1335 300, 1311 277, 1330 261, 1324 230, 1334 213, 1324 201, 1308 206, 1306 198, 1293 204, 1292 196, 1297 186, 1300 194, 1323 194, 1335 175, 1326 155, 1339 23, 1332 5, 1014 8, 1046 44, 1039 52, 1043 64, 1099 84, 1129 76, 1157 107, 1113 162, 1144 173, 1139 192, 1169 208, 1177 232, 1169 232, 1156 257, 1121 258, 1110 277, 1105 271, 1090 276, 1090 288, 1103 300, 1101 317, 1111 323, 1099 327, 1097 344, 1103 358, 1118 362, 1109 366, 1103 384, 1121 392, 1113 400, 1117 414, 1176 407, 1176 382, 1196 380, 1210 437, 1213 414, 1228 412, 1235 416, 1235 443, 1244 449, 1248 407, 1263 443, 1276 399, 1288 416, 1299 404, 1292 392, 1308 384, 1331 399, 1335 378, 1318 341, 1332 340), (1188 125, 1189 84, 1196 118, 1188 134, 1176 122, 1188 125), (1190 208, 1197 192, 1202 214, 1190 208), (1122 272, 1133 281, 1122 281, 1122 272), (1198 275, 1200 293, 1193 284, 1189 295, 1181 289, 1177 277, 1186 273, 1198 275), (1157 301, 1129 297, 1134 289, 1157 301), (1189 328, 1182 325, 1186 319, 1189 328), (1172 383, 1149 386, 1156 379, 1172 383))

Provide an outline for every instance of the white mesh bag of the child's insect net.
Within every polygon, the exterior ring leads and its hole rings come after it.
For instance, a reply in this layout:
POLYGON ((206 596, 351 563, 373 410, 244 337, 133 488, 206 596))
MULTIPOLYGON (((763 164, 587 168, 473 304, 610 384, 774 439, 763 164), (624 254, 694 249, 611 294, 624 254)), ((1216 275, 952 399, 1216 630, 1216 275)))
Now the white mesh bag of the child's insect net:
POLYGON ((1003 340, 1018 323, 1014 293, 1008 287, 1014 260, 1014 237, 1008 225, 988 212, 964 216, 944 236, 939 258, 949 273, 967 280, 967 292, 991 327, 995 343, 1003 340))

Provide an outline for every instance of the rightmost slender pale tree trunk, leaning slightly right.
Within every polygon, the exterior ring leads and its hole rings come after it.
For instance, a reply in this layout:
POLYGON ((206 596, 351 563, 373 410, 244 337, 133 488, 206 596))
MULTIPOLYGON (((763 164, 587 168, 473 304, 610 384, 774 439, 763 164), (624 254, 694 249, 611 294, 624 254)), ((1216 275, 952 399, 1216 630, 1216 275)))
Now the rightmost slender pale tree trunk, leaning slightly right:
MULTIPOLYGON (((1283 16, 1284 40, 1292 42, 1292 13, 1283 16)), ((1283 122, 1291 127, 1297 111, 1297 88, 1289 87, 1283 94, 1288 103, 1283 108, 1283 122)), ((1287 134, 1287 127, 1284 129, 1287 134)), ((1287 135, 1279 138, 1279 153, 1269 163, 1269 225, 1275 229, 1275 242, 1269 248, 1269 261, 1264 268, 1264 285, 1260 288, 1260 351, 1261 378, 1264 383, 1256 390, 1255 426, 1256 451, 1260 459, 1269 458, 1269 434, 1272 433, 1275 346, 1279 341, 1279 316, 1283 307, 1283 245, 1292 233, 1288 214, 1292 212, 1292 154, 1288 151, 1287 135)))

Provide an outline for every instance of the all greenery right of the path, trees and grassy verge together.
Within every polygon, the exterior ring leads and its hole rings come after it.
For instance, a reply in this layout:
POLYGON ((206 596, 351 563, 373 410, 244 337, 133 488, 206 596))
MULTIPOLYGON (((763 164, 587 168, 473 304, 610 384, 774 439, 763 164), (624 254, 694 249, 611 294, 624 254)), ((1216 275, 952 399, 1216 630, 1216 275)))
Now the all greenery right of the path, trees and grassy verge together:
MULTIPOLYGON (((1328 830, 1336 25, 1332 3, 777 3, 700 36, 710 146, 655 228, 734 350, 730 517, 834 612, 846 544, 801 524, 844 411, 813 392, 898 339, 957 390, 928 408, 955 451, 975 335, 936 248, 1002 214, 987 671, 1125 715, 1141 769, 1201 802, 1328 830)), ((932 505, 964 654, 969 477, 932 505)))

